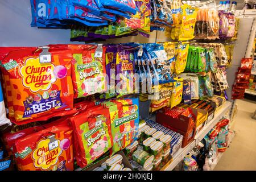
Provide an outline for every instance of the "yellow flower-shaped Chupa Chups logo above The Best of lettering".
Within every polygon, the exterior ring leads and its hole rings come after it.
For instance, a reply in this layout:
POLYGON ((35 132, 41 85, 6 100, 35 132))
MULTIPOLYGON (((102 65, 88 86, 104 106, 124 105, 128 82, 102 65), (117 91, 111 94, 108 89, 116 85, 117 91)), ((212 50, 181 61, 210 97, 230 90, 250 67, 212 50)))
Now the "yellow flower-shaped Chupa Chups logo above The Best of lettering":
POLYGON ((51 63, 40 64, 39 57, 36 59, 30 57, 20 68, 22 84, 30 88, 32 92, 48 90, 51 84, 56 81, 56 77, 53 75, 54 68, 51 63))

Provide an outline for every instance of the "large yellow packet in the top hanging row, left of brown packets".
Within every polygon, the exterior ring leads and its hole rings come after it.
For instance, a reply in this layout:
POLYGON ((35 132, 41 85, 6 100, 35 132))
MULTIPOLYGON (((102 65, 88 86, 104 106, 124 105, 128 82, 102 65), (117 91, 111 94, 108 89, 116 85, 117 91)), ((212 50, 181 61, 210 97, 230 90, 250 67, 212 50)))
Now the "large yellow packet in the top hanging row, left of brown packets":
POLYGON ((194 30, 196 23, 197 8, 185 4, 181 6, 181 26, 179 33, 179 41, 191 40, 195 38, 194 30))

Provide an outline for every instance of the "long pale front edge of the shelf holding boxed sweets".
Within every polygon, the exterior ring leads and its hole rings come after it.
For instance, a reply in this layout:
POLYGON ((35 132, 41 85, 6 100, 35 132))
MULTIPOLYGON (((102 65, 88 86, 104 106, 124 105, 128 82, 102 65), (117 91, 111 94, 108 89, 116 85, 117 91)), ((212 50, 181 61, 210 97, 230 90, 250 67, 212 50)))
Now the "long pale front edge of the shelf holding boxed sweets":
POLYGON ((180 148, 180 150, 177 151, 176 155, 173 158, 172 163, 168 167, 166 167, 165 171, 171 171, 172 169, 174 169, 175 166, 177 166, 177 164, 179 164, 181 160, 183 160, 184 156, 187 155, 188 152, 191 151, 192 148, 195 147, 205 137, 205 135, 207 135, 207 133, 209 133, 209 131, 213 128, 214 125, 216 125, 218 121, 220 121, 220 119, 230 109, 230 107, 231 107, 231 102, 227 101, 226 104, 222 106, 221 110, 219 110, 215 114, 212 121, 207 123, 207 125, 205 125, 203 129, 201 129, 199 133, 196 134, 195 140, 189 143, 186 147, 180 148))

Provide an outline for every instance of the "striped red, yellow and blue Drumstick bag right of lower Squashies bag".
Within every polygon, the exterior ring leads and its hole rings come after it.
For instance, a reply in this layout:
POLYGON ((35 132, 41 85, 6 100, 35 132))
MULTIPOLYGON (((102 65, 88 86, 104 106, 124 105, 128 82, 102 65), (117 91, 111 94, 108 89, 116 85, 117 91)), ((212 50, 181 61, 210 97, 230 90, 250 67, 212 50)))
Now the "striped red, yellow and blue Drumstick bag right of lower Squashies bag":
POLYGON ((113 148, 110 154, 122 150, 138 138, 139 129, 139 100, 126 98, 102 103, 109 109, 113 148))

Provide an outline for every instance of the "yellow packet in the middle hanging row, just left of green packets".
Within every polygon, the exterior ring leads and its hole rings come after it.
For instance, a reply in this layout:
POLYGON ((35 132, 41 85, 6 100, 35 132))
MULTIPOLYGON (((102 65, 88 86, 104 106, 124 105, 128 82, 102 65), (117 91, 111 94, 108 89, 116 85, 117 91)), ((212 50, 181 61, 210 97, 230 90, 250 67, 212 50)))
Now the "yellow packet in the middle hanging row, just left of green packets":
POLYGON ((177 58, 175 61, 175 73, 183 73, 187 64, 188 43, 180 43, 178 46, 177 58))

